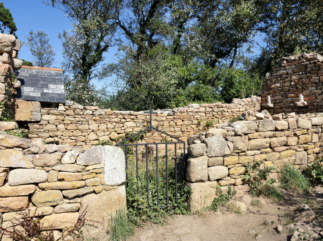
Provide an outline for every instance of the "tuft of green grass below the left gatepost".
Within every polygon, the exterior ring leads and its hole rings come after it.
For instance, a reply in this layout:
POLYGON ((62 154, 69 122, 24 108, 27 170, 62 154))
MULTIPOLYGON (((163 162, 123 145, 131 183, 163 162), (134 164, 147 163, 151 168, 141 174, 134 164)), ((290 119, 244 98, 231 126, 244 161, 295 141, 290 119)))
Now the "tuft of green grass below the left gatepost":
POLYGON ((134 235, 135 225, 129 219, 127 210, 119 207, 115 215, 110 214, 109 233, 108 240, 111 241, 127 241, 129 237, 134 235))

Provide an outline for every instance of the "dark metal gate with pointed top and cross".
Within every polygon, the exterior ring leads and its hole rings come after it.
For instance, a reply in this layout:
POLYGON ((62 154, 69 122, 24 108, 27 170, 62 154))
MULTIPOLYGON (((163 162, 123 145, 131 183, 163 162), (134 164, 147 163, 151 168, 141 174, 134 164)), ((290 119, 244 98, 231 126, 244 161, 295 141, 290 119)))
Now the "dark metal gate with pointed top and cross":
MULTIPOLYGON (((157 114, 157 112, 152 112, 151 110, 151 107, 150 107, 150 111, 145 111, 144 113, 148 113, 150 114, 150 127, 136 133, 135 135, 133 136, 130 136, 129 138, 115 144, 115 146, 118 146, 118 147, 125 147, 125 159, 126 159, 126 170, 128 170, 128 147, 135 147, 135 158, 136 158, 136 178, 137 178, 137 194, 139 194, 139 172, 138 172, 138 148, 140 146, 145 146, 145 151, 146 151, 146 175, 147 175, 147 181, 146 181, 146 187, 147 187, 147 201, 149 203, 149 177, 148 177, 148 152, 149 152, 149 147, 153 147, 155 146, 156 148, 156 179, 157 179, 157 206, 160 207, 159 205, 159 173, 158 173, 158 147, 160 147, 161 145, 164 145, 165 146, 165 158, 166 158, 166 206, 163 206, 163 207, 168 207, 169 205, 169 197, 168 197, 168 183, 169 183, 169 177, 168 177, 168 164, 169 164, 169 160, 168 160, 168 145, 174 145, 175 146, 175 155, 174 157, 172 158, 172 160, 174 161, 174 168, 175 168, 175 203, 177 203, 177 183, 178 183, 178 180, 177 180, 177 160, 178 159, 182 159, 183 160, 183 171, 184 171, 184 177, 185 177, 185 141, 182 141, 174 136, 171 136, 161 130, 158 130, 157 128, 154 128, 152 126, 152 120, 151 120, 151 114, 157 114), (172 139, 175 139, 177 140, 176 142, 159 142, 159 143, 132 143, 132 144, 125 144, 125 142, 127 142, 128 140, 131 140, 133 137, 136 137, 138 135, 140 135, 141 133, 143 132, 146 132, 148 130, 151 130, 151 131, 158 131, 172 139), (177 145, 179 144, 183 144, 184 148, 184 153, 183 155, 180 155, 178 156, 177 155, 177 145)), ((128 171, 126 172, 126 179, 128 181, 128 171)))

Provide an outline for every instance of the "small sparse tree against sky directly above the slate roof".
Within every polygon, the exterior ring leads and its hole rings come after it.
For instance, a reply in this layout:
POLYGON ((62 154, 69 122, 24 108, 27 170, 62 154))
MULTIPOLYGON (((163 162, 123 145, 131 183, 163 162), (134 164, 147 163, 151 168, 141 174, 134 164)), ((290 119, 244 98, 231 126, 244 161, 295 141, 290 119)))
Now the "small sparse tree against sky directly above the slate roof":
POLYGON ((49 44, 48 35, 39 30, 35 34, 31 29, 26 44, 29 45, 30 53, 33 55, 33 64, 39 67, 50 68, 54 63, 54 56, 56 53, 52 45, 49 44))

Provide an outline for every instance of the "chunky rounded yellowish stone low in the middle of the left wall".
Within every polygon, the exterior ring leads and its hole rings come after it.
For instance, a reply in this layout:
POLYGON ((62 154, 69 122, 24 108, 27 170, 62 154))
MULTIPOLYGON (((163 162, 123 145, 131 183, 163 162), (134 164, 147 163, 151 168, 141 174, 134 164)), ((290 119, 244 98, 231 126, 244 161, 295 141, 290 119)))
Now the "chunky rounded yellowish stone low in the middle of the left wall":
POLYGON ((63 203, 63 194, 59 190, 35 192, 31 201, 36 207, 60 205, 63 203))

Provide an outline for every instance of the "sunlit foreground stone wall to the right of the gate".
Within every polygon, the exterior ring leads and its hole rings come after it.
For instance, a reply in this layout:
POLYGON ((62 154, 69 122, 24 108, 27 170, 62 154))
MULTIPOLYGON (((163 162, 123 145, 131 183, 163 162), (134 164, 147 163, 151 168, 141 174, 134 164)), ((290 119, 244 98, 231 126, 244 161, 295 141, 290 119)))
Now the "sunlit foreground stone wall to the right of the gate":
POLYGON ((267 111, 242 115, 249 121, 219 124, 188 138, 186 180, 193 190, 188 202, 192 211, 212 204, 216 185, 233 185, 238 196, 245 193, 247 164, 263 161, 262 169, 276 167, 268 178, 278 180, 277 171, 285 164, 305 169, 323 157, 323 117, 270 116, 267 111))

